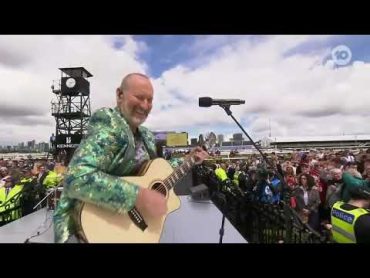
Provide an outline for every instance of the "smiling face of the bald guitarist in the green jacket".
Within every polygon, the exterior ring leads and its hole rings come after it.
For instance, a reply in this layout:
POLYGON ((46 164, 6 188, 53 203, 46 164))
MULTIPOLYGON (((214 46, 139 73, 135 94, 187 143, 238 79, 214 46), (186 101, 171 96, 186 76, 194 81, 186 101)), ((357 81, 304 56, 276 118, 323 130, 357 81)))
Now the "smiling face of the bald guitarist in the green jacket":
POLYGON ((135 131, 152 110, 153 87, 148 79, 138 75, 131 76, 128 82, 126 91, 117 89, 117 105, 135 131))

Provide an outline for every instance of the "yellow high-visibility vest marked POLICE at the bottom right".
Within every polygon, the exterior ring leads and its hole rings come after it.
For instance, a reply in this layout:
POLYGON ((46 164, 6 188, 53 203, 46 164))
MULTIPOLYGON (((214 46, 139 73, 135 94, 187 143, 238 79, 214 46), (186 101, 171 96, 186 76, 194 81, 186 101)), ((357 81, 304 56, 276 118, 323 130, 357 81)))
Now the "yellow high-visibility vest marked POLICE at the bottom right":
POLYGON ((333 240, 337 243, 356 243, 356 221, 360 216, 370 212, 363 208, 347 211, 341 208, 343 204, 345 204, 343 201, 338 201, 331 209, 333 240))

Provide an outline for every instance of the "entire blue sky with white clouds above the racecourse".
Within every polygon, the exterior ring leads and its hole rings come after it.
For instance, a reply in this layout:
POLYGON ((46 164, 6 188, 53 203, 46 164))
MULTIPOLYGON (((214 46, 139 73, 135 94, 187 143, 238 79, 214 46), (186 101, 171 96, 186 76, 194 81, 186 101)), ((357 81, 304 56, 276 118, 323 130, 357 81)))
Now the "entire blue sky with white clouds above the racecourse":
POLYGON ((130 72, 148 74, 146 126, 240 132, 222 108, 198 98, 239 98, 233 115, 250 136, 370 134, 370 36, 0 36, 0 145, 55 132, 50 86, 61 67, 93 74, 91 109, 115 105, 130 72), (270 124, 269 124, 270 123, 270 124))

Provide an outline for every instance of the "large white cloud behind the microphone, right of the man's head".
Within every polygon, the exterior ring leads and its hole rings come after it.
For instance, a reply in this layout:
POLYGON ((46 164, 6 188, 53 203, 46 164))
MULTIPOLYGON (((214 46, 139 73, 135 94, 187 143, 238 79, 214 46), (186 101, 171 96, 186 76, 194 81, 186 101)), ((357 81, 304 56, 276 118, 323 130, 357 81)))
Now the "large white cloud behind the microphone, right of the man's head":
POLYGON ((370 103, 368 64, 335 69, 332 61, 322 65, 318 61, 327 56, 326 48, 284 55, 301 43, 327 38, 271 36, 252 43, 246 37, 202 57, 201 66, 169 69, 156 80, 161 84, 156 87, 156 99, 173 107, 163 112, 153 110, 155 116, 148 124, 162 130, 202 125, 207 131, 229 124, 240 132, 221 108, 198 107, 199 97, 211 96, 245 99, 245 105, 232 107, 233 115, 250 120, 244 127, 256 140, 268 135, 269 118, 272 135, 370 133, 370 123, 364 118, 369 115, 370 103), (186 101, 174 101, 171 92, 186 101))

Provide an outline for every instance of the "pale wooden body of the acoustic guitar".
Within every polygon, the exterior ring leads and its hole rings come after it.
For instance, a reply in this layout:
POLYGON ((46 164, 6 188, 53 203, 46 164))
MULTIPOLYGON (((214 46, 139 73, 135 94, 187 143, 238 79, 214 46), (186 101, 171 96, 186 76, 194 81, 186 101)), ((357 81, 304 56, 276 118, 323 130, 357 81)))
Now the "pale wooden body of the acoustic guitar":
POLYGON ((144 165, 141 176, 123 178, 140 187, 157 190, 167 199, 168 211, 162 217, 153 218, 140 212, 148 225, 144 231, 127 213, 119 214, 84 203, 77 216, 81 236, 89 243, 158 243, 167 215, 180 207, 180 199, 174 190, 168 190, 163 185, 163 181, 173 172, 173 168, 166 160, 156 158, 144 165))

